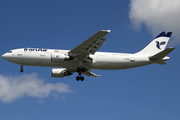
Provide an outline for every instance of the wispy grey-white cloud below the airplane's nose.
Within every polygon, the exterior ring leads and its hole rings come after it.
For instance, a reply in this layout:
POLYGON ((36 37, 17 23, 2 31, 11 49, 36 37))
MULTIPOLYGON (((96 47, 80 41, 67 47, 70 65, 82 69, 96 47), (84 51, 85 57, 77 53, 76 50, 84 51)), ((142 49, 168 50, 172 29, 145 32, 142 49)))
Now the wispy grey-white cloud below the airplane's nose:
POLYGON ((36 73, 22 76, 0 75, 0 101, 12 102, 23 96, 46 98, 50 94, 70 93, 71 88, 64 83, 44 83, 36 73))

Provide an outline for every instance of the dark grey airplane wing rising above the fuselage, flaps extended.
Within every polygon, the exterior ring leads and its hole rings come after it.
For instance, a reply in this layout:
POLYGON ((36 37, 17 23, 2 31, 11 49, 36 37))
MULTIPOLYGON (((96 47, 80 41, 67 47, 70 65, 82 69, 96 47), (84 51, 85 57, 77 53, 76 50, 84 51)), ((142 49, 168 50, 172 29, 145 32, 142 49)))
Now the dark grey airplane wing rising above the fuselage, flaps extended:
POLYGON ((90 54, 94 54, 101 45, 105 42, 106 38, 104 38, 110 30, 100 30, 89 39, 69 51, 70 56, 81 56, 87 57, 90 54))

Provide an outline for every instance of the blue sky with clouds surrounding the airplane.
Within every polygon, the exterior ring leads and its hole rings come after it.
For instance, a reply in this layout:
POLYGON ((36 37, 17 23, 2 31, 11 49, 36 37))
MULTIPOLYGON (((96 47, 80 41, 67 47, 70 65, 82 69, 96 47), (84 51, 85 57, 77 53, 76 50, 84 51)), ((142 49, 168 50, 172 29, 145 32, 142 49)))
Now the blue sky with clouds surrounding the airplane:
POLYGON ((180 1, 2 0, 0 54, 16 48, 71 50, 99 30, 110 29, 99 49, 135 53, 162 31, 176 47, 166 65, 92 70, 52 78, 51 67, 20 66, 0 58, 1 120, 180 119, 180 1))

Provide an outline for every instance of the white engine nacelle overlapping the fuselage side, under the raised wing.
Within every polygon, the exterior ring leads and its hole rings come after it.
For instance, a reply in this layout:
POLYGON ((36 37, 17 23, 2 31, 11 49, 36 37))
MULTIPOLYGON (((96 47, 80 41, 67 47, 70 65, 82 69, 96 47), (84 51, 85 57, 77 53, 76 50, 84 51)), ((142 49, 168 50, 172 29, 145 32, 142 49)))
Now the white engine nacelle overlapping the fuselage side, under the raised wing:
POLYGON ((51 62, 63 62, 63 61, 68 61, 70 60, 70 57, 68 55, 65 54, 52 54, 51 56, 51 62))

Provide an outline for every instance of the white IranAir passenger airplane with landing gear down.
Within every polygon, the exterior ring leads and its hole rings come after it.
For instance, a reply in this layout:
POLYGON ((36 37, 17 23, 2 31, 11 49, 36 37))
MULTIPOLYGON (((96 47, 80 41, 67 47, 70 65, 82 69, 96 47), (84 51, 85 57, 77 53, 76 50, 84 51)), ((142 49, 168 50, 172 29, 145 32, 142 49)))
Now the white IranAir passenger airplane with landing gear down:
POLYGON ((23 65, 58 67, 52 69, 52 77, 63 78, 77 72, 76 80, 84 81, 82 74, 100 77, 90 69, 120 70, 153 63, 166 64, 165 61, 170 59, 167 55, 175 49, 174 47, 165 49, 172 32, 162 32, 144 49, 133 54, 97 52, 106 41, 105 36, 109 32, 110 30, 100 30, 72 50, 20 48, 10 50, 3 54, 2 58, 19 64, 20 72, 24 71, 23 65))

